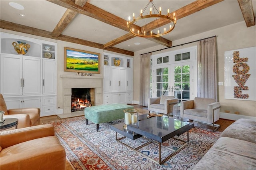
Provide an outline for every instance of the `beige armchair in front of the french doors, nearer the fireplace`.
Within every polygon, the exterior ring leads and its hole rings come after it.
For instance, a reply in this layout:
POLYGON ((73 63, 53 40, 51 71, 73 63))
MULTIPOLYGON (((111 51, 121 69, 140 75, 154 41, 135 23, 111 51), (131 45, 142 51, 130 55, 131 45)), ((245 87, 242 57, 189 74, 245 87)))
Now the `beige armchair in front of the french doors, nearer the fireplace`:
POLYGON ((148 99, 148 110, 149 112, 163 113, 169 117, 169 113, 173 113, 173 105, 177 103, 179 101, 174 96, 153 97, 148 99))

